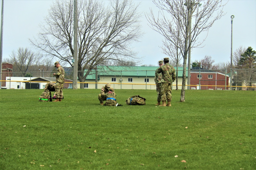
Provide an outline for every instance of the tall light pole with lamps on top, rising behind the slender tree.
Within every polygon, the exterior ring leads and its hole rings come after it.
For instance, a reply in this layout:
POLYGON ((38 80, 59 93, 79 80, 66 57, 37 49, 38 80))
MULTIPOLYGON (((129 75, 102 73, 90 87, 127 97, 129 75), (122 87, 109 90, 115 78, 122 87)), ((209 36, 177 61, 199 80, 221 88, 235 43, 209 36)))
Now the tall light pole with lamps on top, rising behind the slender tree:
MULTIPOLYGON (((197 5, 197 4, 198 4, 199 7, 202 5, 200 3, 191 3, 191 6, 188 8, 188 10, 189 10, 188 13, 189 13, 189 17, 190 17, 188 44, 191 44, 191 20, 192 20, 191 15, 192 15, 192 10, 193 10, 193 6, 197 5)), ((184 5, 187 6, 187 3, 185 3, 184 5)), ((191 61, 190 61, 191 57, 190 56, 191 56, 191 45, 190 45, 189 50, 188 50, 188 83, 187 83, 188 85, 190 85, 190 68, 191 68, 191 66, 190 66, 190 64, 191 64, 191 61)), ((188 86, 188 89, 190 89, 190 86, 188 86)))

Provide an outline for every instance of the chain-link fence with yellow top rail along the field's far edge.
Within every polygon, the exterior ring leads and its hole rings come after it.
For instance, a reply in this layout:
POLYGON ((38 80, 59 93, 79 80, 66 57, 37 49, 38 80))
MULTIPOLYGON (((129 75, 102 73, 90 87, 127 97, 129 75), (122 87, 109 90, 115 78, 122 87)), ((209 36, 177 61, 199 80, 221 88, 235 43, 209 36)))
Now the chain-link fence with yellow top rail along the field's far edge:
MULTIPOLYGON (((78 77, 78 88, 100 89, 106 83, 111 83, 114 89, 151 89, 155 90, 155 69, 152 70, 124 70, 124 71, 91 71, 85 80, 78 77), (80 80, 82 80, 80 82, 80 80)), ((2 89, 42 89, 49 81, 55 82, 54 72, 18 72, 1 73, 2 89)), ((78 75, 86 75, 86 72, 78 72, 78 75)), ((178 70, 176 81, 172 89, 182 89, 183 70, 178 70)), ((73 72, 65 71, 64 88, 72 88, 73 72)), ((186 89, 204 90, 255 90, 256 69, 233 69, 232 80, 230 70, 206 70, 191 69, 186 71, 186 89), (190 82, 188 82, 190 74, 190 82)))

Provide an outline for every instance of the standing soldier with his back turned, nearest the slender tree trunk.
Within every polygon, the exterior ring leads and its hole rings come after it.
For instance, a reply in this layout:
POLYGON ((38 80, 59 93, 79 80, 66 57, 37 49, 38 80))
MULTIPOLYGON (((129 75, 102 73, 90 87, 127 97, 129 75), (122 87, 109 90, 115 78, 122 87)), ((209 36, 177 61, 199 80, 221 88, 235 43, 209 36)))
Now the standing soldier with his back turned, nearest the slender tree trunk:
POLYGON ((172 101, 172 83, 176 79, 176 73, 173 66, 169 64, 169 58, 164 58, 164 66, 161 66, 157 73, 162 73, 162 80, 161 80, 161 100, 162 105, 160 106, 171 106, 172 101), (167 105, 166 105, 167 99, 167 105))

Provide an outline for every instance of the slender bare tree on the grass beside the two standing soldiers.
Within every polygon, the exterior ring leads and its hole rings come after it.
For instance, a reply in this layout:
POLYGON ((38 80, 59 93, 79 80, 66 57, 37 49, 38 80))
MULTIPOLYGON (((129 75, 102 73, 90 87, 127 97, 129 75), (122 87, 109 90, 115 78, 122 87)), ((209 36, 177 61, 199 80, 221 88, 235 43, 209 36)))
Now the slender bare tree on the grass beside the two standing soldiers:
POLYGON ((218 0, 209 0, 201 6, 200 0, 154 0, 156 6, 160 9, 160 13, 155 17, 151 9, 150 14, 146 14, 146 18, 151 24, 151 28, 178 47, 182 53, 183 81, 180 96, 181 102, 185 101, 188 51, 191 48, 199 47, 205 40, 197 41, 200 33, 208 31, 213 23, 224 15, 222 11, 223 5, 221 2, 222 1, 218 0), (192 19, 193 26, 191 26, 190 29, 192 19), (182 35, 180 36, 180 42, 182 45, 176 43, 176 40, 178 39, 177 24, 180 25, 182 32, 182 35), (191 34, 189 34, 190 31, 191 34), (191 41, 189 41, 190 39, 191 41))

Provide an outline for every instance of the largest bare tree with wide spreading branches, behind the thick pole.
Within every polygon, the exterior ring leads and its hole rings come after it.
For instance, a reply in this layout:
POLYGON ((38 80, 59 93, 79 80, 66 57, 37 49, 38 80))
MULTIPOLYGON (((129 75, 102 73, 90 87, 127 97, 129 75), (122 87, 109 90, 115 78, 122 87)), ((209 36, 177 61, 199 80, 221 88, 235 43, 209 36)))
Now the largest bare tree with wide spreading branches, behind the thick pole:
MULTIPOLYGON (((78 79, 86 80, 96 66, 106 60, 136 63, 131 43, 141 37, 138 4, 132 1, 78 1, 78 79), (86 70, 87 69, 87 70, 86 70), (86 70, 86 71, 85 71, 86 70), (86 73, 86 74, 84 74, 86 73)), ((50 57, 72 66, 73 1, 55 1, 41 24, 38 39, 30 40, 50 57)), ((62 65, 63 65, 62 64, 62 65)), ((76 64, 76 63, 75 63, 76 64)), ((80 88, 83 84, 80 84, 80 88)))

